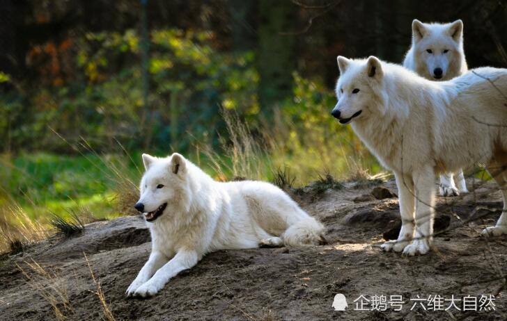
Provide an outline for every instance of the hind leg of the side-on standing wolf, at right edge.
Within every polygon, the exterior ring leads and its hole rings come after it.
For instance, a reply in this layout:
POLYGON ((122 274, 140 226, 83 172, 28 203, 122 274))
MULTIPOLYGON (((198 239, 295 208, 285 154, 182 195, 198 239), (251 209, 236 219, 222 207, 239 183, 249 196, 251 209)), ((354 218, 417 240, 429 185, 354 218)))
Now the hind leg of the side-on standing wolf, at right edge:
POLYGON ((500 161, 492 162, 487 166, 494 180, 500 186, 501 196, 504 199, 504 209, 501 212, 497 225, 483 229, 483 236, 501 236, 507 234, 507 153, 500 161))

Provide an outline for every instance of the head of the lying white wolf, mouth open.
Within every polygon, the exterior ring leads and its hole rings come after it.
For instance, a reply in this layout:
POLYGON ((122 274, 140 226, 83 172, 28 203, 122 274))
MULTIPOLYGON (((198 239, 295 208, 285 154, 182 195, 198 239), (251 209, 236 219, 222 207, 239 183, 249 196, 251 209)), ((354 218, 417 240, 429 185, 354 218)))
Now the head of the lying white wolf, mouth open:
POLYGON ((146 221, 189 210, 187 162, 177 153, 166 158, 143 154, 146 172, 141 179, 141 197, 134 207, 146 221))

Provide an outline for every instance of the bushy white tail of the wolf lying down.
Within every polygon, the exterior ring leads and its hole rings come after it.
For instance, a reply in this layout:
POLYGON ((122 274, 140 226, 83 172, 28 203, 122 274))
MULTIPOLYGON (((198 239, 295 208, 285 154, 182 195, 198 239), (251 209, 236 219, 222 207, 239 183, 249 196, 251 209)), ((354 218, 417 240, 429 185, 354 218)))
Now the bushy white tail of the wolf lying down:
POLYGON ((281 235, 283 244, 290 247, 326 244, 324 226, 315 218, 308 216, 290 225, 281 235))

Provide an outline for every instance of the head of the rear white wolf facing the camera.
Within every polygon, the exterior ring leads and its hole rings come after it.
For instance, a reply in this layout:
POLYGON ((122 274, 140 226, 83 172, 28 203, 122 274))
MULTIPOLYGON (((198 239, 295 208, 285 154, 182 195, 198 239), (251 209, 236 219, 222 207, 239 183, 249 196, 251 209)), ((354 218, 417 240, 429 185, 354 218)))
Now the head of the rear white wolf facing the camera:
POLYGON ((467 69, 463 51, 463 22, 412 22, 412 50, 417 74, 430 80, 448 80, 467 69))

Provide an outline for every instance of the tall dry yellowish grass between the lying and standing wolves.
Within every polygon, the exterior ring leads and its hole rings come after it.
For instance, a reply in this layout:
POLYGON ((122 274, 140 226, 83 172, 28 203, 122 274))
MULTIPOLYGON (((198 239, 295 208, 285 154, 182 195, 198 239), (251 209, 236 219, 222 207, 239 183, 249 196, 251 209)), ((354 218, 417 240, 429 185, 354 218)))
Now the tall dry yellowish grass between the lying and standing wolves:
POLYGON ((221 181, 270 180, 288 189, 328 176, 361 181, 371 178, 366 169, 372 165, 371 156, 348 129, 336 134, 313 123, 301 128, 273 110, 269 122, 261 121, 251 130, 234 111, 222 110, 221 114, 228 131, 227 138, 220 140, 222 151, 199 145, 197 153, 203 151, 221 181))

